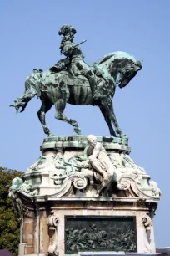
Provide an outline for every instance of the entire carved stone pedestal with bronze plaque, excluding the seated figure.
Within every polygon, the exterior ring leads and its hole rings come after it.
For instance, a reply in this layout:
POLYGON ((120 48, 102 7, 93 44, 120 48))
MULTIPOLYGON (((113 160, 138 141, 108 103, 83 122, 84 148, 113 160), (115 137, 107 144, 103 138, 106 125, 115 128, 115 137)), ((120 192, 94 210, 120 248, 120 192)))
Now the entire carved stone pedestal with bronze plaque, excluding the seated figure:
POLYGON ((157 183, 130 158, 128 141, 97 137, 114 169, 112 181, 97 194, 82 159, 85 136, 49 137, 42 156, 13 180, 10 197, 21 217, 19 255, 78 252, 155 253, 153 216, 161 197, 157 183))

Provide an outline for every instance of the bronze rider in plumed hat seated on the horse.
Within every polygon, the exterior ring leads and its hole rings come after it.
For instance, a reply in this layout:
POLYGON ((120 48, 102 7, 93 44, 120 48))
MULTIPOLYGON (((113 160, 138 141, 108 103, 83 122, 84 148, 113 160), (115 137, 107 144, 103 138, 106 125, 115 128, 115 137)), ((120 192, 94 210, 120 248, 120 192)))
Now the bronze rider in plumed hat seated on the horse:
POLYGON ((106 76, 98 72, 95 66, 95 69, 92 69, 92 67, 84 62, 82 50, 73 43, 75 33, 77 33, 76 29, 70 25, 63 25, 59 30, 58 34, 63 36, 60 45, 61 54, 64 54, 67 58, 59 60, 50 70, 54 72, 68 70, 73 76, 85 76, 90 84, 93 98, 97 100, 105 95, 105 93, 103 95, 103 89, 106 89, 108 82, 106 76))

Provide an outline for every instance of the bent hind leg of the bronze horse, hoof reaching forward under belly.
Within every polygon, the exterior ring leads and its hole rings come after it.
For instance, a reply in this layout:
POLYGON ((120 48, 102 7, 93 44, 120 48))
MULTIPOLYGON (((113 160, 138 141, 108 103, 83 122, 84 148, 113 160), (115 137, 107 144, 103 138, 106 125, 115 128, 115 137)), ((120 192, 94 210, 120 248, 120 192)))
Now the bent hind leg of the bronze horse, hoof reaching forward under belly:
POLYGON ((68 124, 72 125, 74 127, 74 131, 77 134, 81 134, 81 130, 80 130, 80 128, 77 125, 77 121, 76 120, 72 120, 70 118, 67 118, 67 116, 64 115, 64 113, 63 113, 63 111, 64 111, 64 109, 66 107, 66 103, 67 103, 67 101, 64 100, 64 99, 57 100, 57 102, 55 103, 55 107, 56 107, 55 118, 58 119, 58 120, 62 120, 64 122, 67 122, 68 124))

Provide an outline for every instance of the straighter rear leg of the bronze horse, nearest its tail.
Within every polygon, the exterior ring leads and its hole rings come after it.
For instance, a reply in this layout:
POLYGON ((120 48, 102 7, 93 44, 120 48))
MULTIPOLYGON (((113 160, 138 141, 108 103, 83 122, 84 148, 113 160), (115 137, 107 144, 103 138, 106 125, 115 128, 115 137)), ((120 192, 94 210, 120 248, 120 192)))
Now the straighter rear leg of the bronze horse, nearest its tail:
POLYGON ((44 102, 42 102, 42 106, 41 106, 40 110, 37 111, 37 116, 42 124, 43 131, 48 136, 52 136, 52 133, 49 130, 49 128, 47 127, 45 115, 46 115, 47 111, 51 109, 52 105, 53 105, 52 103, 45 104, 44 102))

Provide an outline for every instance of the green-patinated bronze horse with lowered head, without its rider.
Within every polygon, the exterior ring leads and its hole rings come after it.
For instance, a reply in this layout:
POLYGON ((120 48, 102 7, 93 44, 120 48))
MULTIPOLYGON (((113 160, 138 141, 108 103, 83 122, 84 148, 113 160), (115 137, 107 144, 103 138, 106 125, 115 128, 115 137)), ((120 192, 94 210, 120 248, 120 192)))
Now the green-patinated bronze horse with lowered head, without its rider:
POLYGON ((37 111, 37 116, 42 124, 43 131, 48 136, 51 136, 52 133, 47 127, 45 115, 52 105, 56 107, 55 118, 72 125, 77 134, 81 133, 77 121, 64 115, 66 104, 97 105, 104 116, 110 134, 112 136, 125 137, 117 123, 112 98, 115 94, 116 85, 120 88, 126 86, 138 73, 138 70, 142 69, 142 64, 131 54, 114 52, 105 55, 95 66, 111 78, 107 91, 103 92, 102 97, 97 100, 93 98, 91 87, 84 77, 72 77, 72 74, 67 71, 54 73, 49 70, 42 72, 42 70, 34 69, 37 70, 36 73, 30 74, 26 79, 24 94, 15 100, 15 105, 12 106, 15 107, 17 112, 21 107, 22 110, 20 112, 23 112, 28 101, 37 95, 42 101, 41 108, 37 111))

